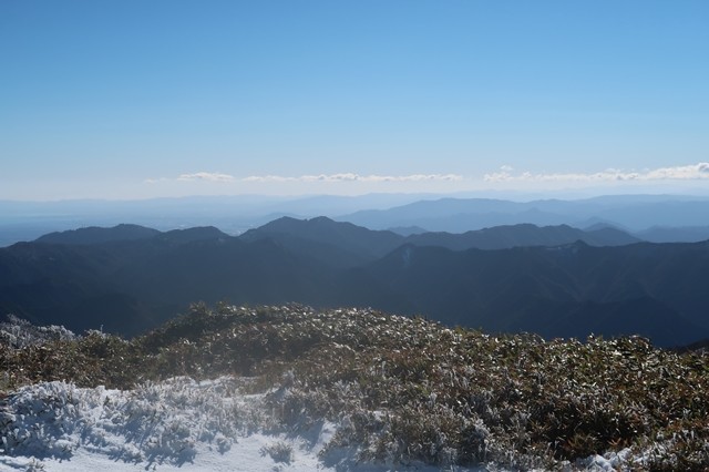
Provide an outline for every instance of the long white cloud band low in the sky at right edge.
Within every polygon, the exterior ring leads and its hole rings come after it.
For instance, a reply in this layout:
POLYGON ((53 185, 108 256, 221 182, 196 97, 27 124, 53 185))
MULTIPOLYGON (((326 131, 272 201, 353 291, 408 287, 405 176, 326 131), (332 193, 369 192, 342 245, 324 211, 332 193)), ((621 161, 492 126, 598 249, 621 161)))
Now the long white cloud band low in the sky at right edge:
POLYGON ((648 181, 696 181, 709 178, 709 163, 682 165, 676 167, 660 167, 655 170, 644 170, 639 172, 628 172, 617 168, 608 168, 603 172, 590 174, 584 173, 548 173, 533 174, 523 172, 512 173, 510 166, 502 166, 500 172, 485 174, 486 182, 648 182, 648 181))

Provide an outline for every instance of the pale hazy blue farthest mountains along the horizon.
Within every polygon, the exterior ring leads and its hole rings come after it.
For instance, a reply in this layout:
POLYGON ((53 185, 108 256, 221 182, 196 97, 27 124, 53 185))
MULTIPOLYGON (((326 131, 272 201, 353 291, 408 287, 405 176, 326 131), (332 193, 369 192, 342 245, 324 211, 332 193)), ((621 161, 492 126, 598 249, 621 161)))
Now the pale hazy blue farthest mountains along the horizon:
MULTIPOLYGON (((0 201, 0 247, 58 230, 111 227, 132 222, 160 230, 214 225, 230 235, 281 216, 327 216, 369 229, 409 236, 427 232, 465 233, 533 224, 619 228, 657 243, 709 238, 709 196, 610 195, 578 199, 526 201, 430 194, 274 197, 258 195, 155 198, 146 201, 0 201)), ((477 195, 477 194, 476 194, 477 195)), ((504 194, 494 194, 504 195, 504 194)), ((521 198, 518 194, 510 194, 521 198)))

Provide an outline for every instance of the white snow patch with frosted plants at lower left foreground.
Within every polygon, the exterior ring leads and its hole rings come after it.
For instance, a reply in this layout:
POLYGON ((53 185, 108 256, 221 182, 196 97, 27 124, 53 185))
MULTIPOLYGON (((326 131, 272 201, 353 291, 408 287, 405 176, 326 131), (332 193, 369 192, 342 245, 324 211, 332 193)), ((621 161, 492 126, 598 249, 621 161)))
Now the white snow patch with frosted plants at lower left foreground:
MULTIPOLYGON (((126 391, 65 382, 24 387, 0 401, 0 472, 440 470, 358 463, 354 450, 323 451, 335 423, 285 431, 265 394, 244 393, 246 382, 174 378, 126 391)), ((623 462, 620 455, 594 456, 578 465, 613 471, 623 462)))

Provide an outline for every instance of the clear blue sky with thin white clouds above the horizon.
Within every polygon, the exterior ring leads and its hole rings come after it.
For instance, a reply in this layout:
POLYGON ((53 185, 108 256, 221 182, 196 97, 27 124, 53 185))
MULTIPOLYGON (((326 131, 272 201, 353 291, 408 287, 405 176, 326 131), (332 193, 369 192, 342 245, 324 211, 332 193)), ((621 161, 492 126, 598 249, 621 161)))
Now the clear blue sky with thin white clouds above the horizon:
POLYGON ((709 186, 709 2, 0 2, 0 198, 709 186))

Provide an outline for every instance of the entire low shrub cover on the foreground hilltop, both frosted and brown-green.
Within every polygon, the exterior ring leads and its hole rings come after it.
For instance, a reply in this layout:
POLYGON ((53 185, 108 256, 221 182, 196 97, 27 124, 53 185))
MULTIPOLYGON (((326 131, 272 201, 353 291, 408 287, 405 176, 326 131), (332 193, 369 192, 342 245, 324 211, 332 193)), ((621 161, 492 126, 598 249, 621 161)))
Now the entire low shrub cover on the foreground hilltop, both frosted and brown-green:
POLYGON ((371 309, 197 304, 132 340, 3 342, 0 366, 8 458, 102 449, 178 466, 267 432, 258 455, 276 468, 298 466, 304 448, 332 470, 709 468, 709 358, 639 337, 545 341, 371 309))

